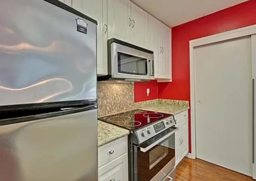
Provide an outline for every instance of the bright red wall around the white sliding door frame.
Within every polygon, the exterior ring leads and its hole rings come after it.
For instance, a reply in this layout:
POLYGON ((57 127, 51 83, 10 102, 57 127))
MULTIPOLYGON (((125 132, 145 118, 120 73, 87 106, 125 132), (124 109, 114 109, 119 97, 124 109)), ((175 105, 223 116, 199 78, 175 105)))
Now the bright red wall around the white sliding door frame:
MULTIPOLYGON (((256 24, 256 0, 238 4, 172 28, 172 83, 158 83, 158 97, 190 101, 190 40, 253 24, 256 24)), ((134 91, 139 90, 135 88, 134 91)), ((190 128, 189 121, 189 131, 190 128)), ((191 133, 189 137, 191 139, 191 133)), ((189 151, 191 152, 191 143, 189 151)))

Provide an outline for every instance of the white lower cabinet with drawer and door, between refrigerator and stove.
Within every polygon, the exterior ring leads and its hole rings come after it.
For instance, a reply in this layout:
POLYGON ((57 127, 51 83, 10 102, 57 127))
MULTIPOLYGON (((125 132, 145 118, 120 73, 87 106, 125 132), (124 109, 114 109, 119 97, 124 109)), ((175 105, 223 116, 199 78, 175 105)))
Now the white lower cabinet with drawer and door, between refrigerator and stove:
POLYGON ((99 181, 128 181, 128 137, 98 149, 99 181))

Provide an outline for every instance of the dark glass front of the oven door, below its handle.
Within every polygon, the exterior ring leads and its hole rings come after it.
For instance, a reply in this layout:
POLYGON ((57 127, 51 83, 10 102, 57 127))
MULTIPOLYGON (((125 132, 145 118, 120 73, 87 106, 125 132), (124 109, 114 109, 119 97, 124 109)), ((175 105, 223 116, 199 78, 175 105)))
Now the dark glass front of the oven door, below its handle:
POLYGON ((146 152, 140 150, 140 147, 146 148, 151 144, 154 143, 149 140, 140 146, 134 146, 136 149, 136 181, 150 181, 170 161, 175 165, 175 134, 146 152))

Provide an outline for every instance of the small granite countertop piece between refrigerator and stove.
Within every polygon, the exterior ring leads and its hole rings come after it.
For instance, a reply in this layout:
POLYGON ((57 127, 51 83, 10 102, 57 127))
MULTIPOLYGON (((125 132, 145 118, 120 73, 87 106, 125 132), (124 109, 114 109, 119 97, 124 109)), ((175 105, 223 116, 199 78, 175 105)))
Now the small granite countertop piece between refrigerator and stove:
POLYGON ((127 129, 98 120, 98 147, 129 134, 127 129))

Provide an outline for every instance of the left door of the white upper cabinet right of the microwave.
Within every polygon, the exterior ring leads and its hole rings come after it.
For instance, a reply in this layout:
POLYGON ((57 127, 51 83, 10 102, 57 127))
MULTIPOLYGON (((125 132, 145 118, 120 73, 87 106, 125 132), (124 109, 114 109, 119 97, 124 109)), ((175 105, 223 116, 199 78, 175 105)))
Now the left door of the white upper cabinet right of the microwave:
POLYGON ((146 42, 148 44, 148 49, 154 52, 154 69, 155 69, 155 78, 159 77, 159 21, 148 14, 148 34, 146 42))

